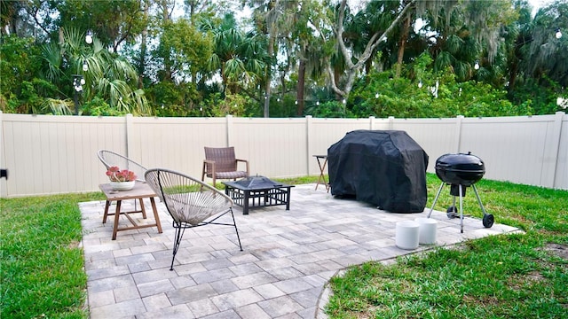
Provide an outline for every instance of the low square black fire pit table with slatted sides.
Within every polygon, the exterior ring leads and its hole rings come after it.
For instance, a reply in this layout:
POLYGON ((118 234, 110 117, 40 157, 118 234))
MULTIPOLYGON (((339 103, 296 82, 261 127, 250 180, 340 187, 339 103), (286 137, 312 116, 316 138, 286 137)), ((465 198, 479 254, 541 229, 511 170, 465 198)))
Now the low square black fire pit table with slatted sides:
POLYGON ((242 214, 248 214, 248 208, 258 206, 286 205, 286 210, 290 210, 290 189, 293 185, 274 182, 264 176, 222 183, 225 184, 225 194, 242 207, 242 214))

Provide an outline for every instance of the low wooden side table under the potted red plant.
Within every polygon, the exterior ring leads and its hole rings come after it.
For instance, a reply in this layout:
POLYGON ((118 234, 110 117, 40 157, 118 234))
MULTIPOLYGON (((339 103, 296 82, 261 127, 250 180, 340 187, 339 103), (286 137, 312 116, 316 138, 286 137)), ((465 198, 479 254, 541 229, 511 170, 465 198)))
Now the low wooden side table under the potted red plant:
POLYGON ((155 226, 158 228, 158 232, 162 233, 162 224, 160 223, 160 217, 158 216, 158 210, 156 209, 156 203, 154 201, 154 197, 156 196, 156 194, 154 193, 154 191, 152 191, 152 189, 148 184, 137 181, 136 184, 134 185, 134 188, 131 189, 130 191, 114 191, 109 183, 100 184, 99 188, 101 191, 105 193, 106 196, 105 214, 103 216, 103 223, 106 223, 106 216, 114 215, 113 240, 116 239, 116 233, 122 230, 138 230, 142 228, 155 226), (142 217, 146 219, 146 208, 144 207, 144 202, 143 202, 144 198, 150 198, 150 203, 152 203, 152 210, 154 211, 155 222, 142 225, 134 221, 132 217, 130 217, 130 214, 142 213, 142 217), (125 199, 138 200, 140 203, 140 209, 139 210, 135 209, 130 212, 122 212, 121 204, 122 200, 125 199), (114 211, 114 213, 109 214, 108 207, 110 206, 110 203, 112 201, 116 201, 116 210, 114 211), (132 223, 132 226, 118 228, 118 222, 121 214, 124 215, 130 221, 130 223, 132 223))

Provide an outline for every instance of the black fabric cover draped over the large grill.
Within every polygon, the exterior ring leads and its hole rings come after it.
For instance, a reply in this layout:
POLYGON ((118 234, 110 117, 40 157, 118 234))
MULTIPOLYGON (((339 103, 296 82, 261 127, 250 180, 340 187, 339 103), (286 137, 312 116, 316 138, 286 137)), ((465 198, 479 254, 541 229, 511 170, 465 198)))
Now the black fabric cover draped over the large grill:
POLYGON ((355 130, 327 149, 331 194, 393 213, 426 206, 428 154, 405 131, 355 130))

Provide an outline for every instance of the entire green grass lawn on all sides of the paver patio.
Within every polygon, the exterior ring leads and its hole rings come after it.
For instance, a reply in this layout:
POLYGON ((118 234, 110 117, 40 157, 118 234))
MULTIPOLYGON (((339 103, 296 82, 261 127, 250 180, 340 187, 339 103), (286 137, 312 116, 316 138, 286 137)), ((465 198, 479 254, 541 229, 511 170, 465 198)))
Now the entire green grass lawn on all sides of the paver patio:
MULTIPOLYGON (((315 183, 317 176, 280 180, 315 183)), ((438 191, 428 176, 429 204, 438 191)), ((568 191, 482 180, 495 222, 523 235, 486 237, 384 266, 368 262, 332 280, 333 318, 566 317, 568 191), (563 250, 564 249, 564 250, 563 250), (563 255, 564 252, 564 255, 563 255)), ((473 191, 466 214, 481 217, 473 191)), ((87 318, 78 203, 102 193, 0 198, 0 318, 87 318)), ((451 204, 449 188, 437 210, 451 204)))

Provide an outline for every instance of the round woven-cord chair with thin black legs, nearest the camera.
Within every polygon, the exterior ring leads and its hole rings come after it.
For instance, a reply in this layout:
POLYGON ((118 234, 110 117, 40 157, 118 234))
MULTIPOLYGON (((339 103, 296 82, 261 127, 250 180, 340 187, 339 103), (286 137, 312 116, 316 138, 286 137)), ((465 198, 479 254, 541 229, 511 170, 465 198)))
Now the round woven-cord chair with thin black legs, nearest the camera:
POLYGON ((177 249, 186 229, 209 224, 233 226, 242 252, 241 237, 233 214, 233 199, 209 184, 190 176, 163 168, 146 172, 146 183, 152 187, 170 213, 176 230, 170 270, 174 269, 177 249), (217 222, 231 213, 233 223, 217 222))

